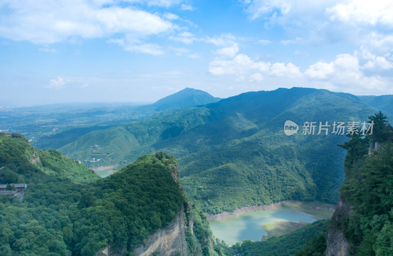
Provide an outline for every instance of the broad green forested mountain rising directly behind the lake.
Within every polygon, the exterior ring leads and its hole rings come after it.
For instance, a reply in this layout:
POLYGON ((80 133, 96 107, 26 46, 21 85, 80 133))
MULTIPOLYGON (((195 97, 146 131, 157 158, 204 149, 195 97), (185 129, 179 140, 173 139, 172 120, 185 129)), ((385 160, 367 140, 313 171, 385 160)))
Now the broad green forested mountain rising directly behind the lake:
POLYGON ((336 203, 344 179, 344 152, 337 144, 347 138, 332 134, 332 127, 317 135, 318 124, 363 122, 372 113, 351 94, 280 88, 164 111, 91 132, 60 151, 90 166, 166 151, 179 159, 188 197, 209 213, 286 199, 336 203), (300 126, 297 134, 285 136, 286 120, 300 126), (316 122, 314 135, 302 134, 307 121, 316 122), (111 137, 121 138, 121 149, 111 137))

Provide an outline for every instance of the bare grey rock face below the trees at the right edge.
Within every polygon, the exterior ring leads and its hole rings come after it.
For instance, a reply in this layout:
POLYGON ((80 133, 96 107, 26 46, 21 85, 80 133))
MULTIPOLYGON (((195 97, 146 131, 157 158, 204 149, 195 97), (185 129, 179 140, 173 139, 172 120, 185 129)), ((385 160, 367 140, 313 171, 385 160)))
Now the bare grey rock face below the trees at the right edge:
POLYGON ((347 256, 349 254, 350 244, 344 237, 346 228, 344 221, 349 217, 350 212, 351 207, 340 196, 330 223, 326 256, 347 256))

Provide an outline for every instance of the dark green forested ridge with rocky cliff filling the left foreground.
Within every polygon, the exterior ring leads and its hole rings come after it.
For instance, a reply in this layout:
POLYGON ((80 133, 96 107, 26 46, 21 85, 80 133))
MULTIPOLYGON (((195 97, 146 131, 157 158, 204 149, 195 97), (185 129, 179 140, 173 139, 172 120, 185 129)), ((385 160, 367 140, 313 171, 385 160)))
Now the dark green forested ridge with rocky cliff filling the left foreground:
POLYGON ((100 178, 21 134, 0 135, 1 183, 27 183, 23 201, 0 197, 0 255, 223 255, 206 215, 186 198, 173 156, 141 156, 100 178), (168 225, 177 231, 165 240, 168 225), (151 235, 169 246, 150 244, 151 235))

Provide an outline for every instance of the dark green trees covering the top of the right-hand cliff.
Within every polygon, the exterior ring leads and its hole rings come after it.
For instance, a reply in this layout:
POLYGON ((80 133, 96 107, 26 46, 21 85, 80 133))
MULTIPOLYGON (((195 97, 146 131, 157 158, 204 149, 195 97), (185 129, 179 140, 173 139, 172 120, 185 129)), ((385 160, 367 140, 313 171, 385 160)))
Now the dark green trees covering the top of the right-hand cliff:
POLYGON ((387 256, 393 253, 393 144, 384 114, 369 116, 369 121, 379 124, 374 125, 373 139, 382 142, 382 147, 364 155, 356 165, 347 166, 340 190, 353 211, 333 225, 345 230, 351 255, 387 256))

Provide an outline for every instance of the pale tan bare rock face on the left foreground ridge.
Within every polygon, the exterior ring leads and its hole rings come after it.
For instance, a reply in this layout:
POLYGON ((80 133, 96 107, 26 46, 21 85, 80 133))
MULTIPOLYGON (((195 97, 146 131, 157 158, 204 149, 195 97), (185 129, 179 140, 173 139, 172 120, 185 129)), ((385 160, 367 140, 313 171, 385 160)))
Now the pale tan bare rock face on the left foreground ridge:
POLYGON ((134 256, 150 256, 156 253, 160 256, 180 254, 187 256, 187 243, 184 232, 184 210, 165 228, 154 232, 145 241, 145 246, 134 249, 134 256))

